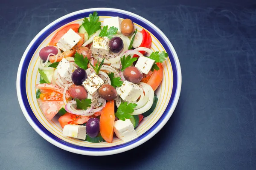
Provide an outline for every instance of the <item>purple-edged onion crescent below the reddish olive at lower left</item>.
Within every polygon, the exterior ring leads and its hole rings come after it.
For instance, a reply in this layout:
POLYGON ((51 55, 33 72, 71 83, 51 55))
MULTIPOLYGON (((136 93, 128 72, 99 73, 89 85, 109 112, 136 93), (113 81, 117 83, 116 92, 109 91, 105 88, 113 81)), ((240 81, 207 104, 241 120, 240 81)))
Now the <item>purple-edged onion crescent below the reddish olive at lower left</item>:
POLYGON ((81 115, 81 116, 91 116, 91 115, 94 114, 94 112, 91 112, 92 109, 93 109, 92 107, 87 108, 87 110, 77 110, 76 108, 74 108, 74 106, 76 107, 76 101, 71 100, 65 106, 65 110, 69 113, 76 114, 76 115, 81 115))

